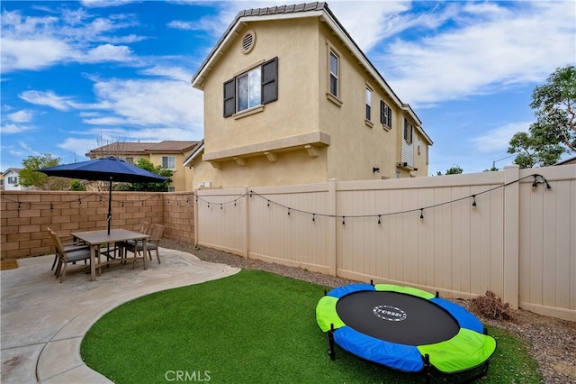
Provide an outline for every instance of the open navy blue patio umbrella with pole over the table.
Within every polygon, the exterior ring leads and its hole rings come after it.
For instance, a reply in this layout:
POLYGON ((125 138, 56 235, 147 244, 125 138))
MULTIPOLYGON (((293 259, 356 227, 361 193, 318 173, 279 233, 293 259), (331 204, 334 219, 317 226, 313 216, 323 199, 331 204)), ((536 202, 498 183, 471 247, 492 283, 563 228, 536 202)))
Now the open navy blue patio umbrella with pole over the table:
POLYGON ((110 234, 110 221, 112 220, 112 181, 126 183, 161 183, 167 180, 167 178, 158 176, 156 173, 141 169, 112 156, 38 169, 38 171, 48 176, 58 176, 60 178, 109 181, 108 234, 110 234))

